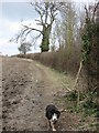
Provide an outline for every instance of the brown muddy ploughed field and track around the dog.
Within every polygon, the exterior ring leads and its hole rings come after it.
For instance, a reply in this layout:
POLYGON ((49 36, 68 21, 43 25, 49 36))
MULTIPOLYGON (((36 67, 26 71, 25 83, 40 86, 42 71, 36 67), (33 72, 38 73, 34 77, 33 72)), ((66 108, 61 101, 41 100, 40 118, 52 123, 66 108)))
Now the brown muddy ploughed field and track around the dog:
MULTIPOLYGON (((55 103, 56 93, 62 90, 48 68, 32 60, 3 58, 2 129, 47 131, 45 108, 55 103)), ((57 130, 74 130, 77 124, 77 117, 63 113, 57 130)))

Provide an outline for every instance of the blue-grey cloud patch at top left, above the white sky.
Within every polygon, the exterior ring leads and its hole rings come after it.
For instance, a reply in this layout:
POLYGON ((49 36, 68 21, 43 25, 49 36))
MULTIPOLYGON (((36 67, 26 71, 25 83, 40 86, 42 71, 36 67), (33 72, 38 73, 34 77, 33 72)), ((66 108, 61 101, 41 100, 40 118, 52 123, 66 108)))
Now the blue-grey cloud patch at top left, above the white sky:
POLYGON ((13 21, 20 21, 21 19, 34 19, 36 12, 32 6, 25 2, 3 2, 2 16, 13 21))

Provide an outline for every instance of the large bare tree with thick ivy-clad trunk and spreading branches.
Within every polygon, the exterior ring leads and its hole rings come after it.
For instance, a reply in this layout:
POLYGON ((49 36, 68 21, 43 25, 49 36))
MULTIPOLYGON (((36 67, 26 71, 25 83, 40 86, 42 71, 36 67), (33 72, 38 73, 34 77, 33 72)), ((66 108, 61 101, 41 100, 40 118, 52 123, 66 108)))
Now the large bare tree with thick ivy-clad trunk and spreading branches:
POLYGON ((52 25, 56 16, 58 13, 59 8, 62 7, 62 2, 31 2, 32 7, 35 8, 35 11, 40 16, 40 20, 35 20, 42 27, 42 30, 31 27, 31 24, 22 24, 22 29, 20 33, 16 35, 15 40, 25 40, 28 34, 33 31, 38 32, 40 34, 35 38, 40 38, 42 35, 41 51, 45 52, 50 50, 50 34, 52 30, 52 25))

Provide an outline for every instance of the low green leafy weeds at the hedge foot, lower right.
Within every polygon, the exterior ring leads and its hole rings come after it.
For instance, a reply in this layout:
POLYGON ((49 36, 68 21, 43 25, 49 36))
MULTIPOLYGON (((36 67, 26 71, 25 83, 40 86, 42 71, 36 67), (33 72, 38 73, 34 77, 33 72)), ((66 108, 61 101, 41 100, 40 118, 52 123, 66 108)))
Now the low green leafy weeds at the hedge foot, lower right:
POLYGON ((67 109, 70 112, 82 112, 84 115, 99 116, 97 94, 96 92, 87 92, 79 94, 79 105, 77 104, 77 92, 69 92, 64 96, 66 103, 68 103, 67 109))

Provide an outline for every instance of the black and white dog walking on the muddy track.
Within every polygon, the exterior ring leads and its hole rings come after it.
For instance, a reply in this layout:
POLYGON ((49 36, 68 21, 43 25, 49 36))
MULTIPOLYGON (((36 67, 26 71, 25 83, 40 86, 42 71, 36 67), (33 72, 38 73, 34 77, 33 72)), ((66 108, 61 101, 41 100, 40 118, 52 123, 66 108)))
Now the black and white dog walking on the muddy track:
POLYGON ((61 112, 58 111, 58 109, 55 105, 50 104, 46 106, 46 117, 48 120, 50 127, 53 131, 56 131, 55 124, 56 124, 59 115, 61 115, 61 112))

